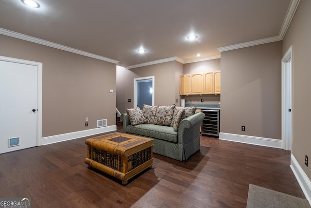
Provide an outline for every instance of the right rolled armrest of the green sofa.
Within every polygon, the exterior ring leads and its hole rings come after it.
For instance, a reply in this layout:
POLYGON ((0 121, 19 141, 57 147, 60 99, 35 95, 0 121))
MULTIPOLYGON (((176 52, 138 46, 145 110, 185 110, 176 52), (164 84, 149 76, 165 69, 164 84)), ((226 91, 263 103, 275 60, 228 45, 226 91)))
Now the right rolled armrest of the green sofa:
POLYGON ((178 125, 178 143, 189 143, 193 138, 200 136, 200 128, 204 113, 195 113, 182 121, 178 125))

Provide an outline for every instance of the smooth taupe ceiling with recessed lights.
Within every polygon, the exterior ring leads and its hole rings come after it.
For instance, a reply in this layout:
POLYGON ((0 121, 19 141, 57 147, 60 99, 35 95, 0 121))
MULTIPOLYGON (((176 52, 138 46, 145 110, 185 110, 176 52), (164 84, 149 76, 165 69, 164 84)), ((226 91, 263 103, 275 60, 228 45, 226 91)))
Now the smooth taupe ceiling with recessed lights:
POLYGON ((34 37, 127 68, 172 57, 187 63, 245 43, 281 40, 293 1, 37 0, 40 7, 30 8, 0 0, 0 34, 34 37), (189 41, 190 34, 198 38, 189 41), (146 53, 139 54, 139 47, 146 53))

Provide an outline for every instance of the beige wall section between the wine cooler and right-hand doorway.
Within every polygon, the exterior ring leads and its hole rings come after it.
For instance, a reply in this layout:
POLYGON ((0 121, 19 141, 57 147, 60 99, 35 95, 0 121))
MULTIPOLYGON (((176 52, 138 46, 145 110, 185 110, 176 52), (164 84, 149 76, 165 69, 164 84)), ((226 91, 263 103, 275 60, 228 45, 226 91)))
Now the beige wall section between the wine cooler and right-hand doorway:
POLYGON ((221 132, 281 139, 281 54, 281 41, 221 53, 221 132))

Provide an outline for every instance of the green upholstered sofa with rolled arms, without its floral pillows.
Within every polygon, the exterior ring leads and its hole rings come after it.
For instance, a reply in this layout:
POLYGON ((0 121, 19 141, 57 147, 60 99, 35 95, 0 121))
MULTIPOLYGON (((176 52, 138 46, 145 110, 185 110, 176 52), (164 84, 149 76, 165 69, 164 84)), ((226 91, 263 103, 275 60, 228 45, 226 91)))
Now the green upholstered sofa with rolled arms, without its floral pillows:
POLYGON ((136 134, 154 139, 153 152, 176 160, 186 161, 194 152, 200 150, 200 127, 204 113, 195 113, 184 118, 173 127, 156 124, 131 125, 127 113, 121 114, 123 133, 136 134))

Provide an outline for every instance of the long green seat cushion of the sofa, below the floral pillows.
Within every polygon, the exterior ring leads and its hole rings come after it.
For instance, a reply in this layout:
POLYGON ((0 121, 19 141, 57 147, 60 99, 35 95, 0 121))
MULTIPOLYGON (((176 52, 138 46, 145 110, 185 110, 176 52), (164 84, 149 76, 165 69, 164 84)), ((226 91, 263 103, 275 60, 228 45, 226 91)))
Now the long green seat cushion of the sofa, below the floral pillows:
POLYGON ((173 127, 169 126, 159 126, 155 124, 128 125, 126 126, 126 132, 169 142, 177 142, 177 132, 173 130, 173 127))

